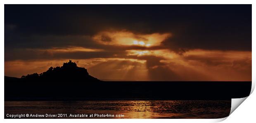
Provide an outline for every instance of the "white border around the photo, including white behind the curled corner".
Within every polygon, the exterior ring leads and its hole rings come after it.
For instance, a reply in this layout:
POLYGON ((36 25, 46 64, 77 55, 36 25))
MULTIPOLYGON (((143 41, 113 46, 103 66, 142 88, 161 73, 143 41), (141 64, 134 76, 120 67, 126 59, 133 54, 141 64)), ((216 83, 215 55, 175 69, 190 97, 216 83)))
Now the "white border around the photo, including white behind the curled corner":
MULTIPOLYGON (((91 1, 85 1, 85 0, 1 0, 1 6, 0 6, 0 14, 1 14, 1 53, 0 53, 0 58, 1 58, 1 64, 0 67, 2 68, 0 71, 0 82, 1 82, 1 113, 0 117, 4 119, 4 4, 252 4, 252 11, 253 15, 256 13, 254 9, 254 3, 256 0, 91 0, 91 1)), ((255 21, 255 16, 252 16, 253 22, 255 21)), ((252 25, 252 34, 254 34, 254 29, 255 25, 252 25)), ((255 42, 254 38, 255 36, 253 35, 252 37, 252 56, 255 54, 255 42)), ((252 81, 253 81, 253 89, 255 87, 255 57, 252 57, 252 81)), ((251 93, 253 91, 251 90, 251 93)), ((218 122, 218 121, 223 121, 224 122, 237 122, 237 121, 244 121, 245 118, 247 118, 248 123, 253 123, 255 121, 254 115, 255 115, 255 103, 256 102, 256 97, 255 94, 251 94, 247 101, 244 103, 247 103, 247 105, 241 104, 240 107, 243 108, 238 108, 240 111, 234 111, 234 116, 229 116, 227 120, 226 118, 221 118, 221 119, 22 119, 22 120, 17 120, 17 119, 4 119, 5 122, 26 122, 26 123, 45 123, 45 122, 111 122, 111 123, 119 123, 119 122, 124 122, 124 123, 130 123, 130 122, 144 122, 144 123, 153 123, 153 122, 189 122, 189 123, 198 123, 198 122, 218 122), (253 97, 251 97, 253 96, 253 97), (248 117, 249 116, 249 117, 248 117)), ((237 110, 238 110, 237 109, 237 110)))

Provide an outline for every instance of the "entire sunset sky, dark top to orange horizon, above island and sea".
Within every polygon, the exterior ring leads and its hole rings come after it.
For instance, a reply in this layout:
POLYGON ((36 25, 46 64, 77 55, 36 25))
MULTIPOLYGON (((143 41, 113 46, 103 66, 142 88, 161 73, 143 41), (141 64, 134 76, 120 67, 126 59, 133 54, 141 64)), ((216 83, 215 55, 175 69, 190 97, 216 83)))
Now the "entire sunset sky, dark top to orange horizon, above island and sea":
POLYGON ((5 5, 5 76, 251 81, 251 5, 5 5))

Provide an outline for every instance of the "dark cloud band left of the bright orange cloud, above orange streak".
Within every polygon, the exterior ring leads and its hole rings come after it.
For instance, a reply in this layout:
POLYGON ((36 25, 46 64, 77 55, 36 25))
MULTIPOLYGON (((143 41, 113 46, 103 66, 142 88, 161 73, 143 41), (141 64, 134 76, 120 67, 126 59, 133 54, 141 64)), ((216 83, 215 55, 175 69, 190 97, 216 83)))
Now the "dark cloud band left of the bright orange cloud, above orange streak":
POLYGON ((95 48, 97 45, 87 35, 12 35, 5 37, 6 49, 49 49, 67 46, 95 48))

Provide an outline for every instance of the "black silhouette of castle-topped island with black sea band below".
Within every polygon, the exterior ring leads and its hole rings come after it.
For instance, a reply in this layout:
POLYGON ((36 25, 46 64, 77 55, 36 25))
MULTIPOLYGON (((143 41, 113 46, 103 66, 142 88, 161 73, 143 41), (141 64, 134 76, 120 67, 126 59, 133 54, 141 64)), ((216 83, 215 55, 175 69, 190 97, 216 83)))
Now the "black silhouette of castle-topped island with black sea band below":
POLYGON ((71 60, 41 74, 5 77, 5 101, 231 100, 250 91, 251 81, 100 81, 71 60))

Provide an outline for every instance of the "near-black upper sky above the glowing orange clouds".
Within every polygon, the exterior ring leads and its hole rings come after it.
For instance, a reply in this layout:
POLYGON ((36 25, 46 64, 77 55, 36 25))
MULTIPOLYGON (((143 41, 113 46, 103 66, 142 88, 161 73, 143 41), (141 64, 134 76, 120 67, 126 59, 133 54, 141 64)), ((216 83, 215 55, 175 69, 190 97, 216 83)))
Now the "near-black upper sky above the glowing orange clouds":
POLYGON ((5 5, 7 50, 50 47, 47 41, 26 43, 34 35, 92 36, 102 30, 171 32, 162 43, 173 50, 251 51, 251 5, 5 5))

